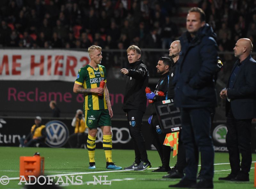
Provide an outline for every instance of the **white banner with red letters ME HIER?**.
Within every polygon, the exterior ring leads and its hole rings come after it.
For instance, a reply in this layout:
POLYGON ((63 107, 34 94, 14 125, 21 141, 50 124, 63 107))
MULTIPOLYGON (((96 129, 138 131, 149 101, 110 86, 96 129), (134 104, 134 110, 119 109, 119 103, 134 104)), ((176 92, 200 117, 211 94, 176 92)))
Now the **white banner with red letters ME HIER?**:
POLYGON ((1 80, 60 80, 74 82, 77 71, 89 64, 85 51, 2 49, 1 80))

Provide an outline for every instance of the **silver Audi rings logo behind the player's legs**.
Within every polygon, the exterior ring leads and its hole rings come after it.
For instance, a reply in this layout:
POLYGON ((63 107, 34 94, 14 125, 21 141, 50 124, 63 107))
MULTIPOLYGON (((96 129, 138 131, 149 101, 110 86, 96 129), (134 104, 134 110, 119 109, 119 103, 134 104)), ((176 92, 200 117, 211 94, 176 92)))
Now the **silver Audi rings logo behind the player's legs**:
MULTIPOLYGON (((128 128, 112 127, 111 130, 112 130, 112 133, 113 133, 112 134, 112 143, 126 144, 132 139, 131 136, 130 136, 130 132, 129 132, 128 128)), ((102 131, 101 131, 100 128, 98 128, 96 142, 103 142, 102 138, 103 138, 102 131)))

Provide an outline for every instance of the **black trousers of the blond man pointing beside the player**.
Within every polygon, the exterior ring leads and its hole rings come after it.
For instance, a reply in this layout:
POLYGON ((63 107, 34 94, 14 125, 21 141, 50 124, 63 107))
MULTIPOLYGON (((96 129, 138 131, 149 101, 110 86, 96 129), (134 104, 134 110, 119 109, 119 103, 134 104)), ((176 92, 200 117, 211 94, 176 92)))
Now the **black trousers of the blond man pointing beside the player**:
POLYGON ((129 122, 129 132, 134 143, 135 163, 140 161, 147 162, 148 154, 146 151, 145 140, 141 133, 143 111, 126 110, 127 120, 129 122))

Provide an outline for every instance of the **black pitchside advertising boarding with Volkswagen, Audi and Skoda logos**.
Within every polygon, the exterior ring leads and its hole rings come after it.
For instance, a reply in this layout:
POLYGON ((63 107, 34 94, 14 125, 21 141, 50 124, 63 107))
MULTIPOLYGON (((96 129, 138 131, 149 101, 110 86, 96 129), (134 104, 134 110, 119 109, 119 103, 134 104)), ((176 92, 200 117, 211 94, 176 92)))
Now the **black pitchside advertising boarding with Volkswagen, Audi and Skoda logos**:
MULTIPOLYGON (((50 120, 43 118, 43 124, 46 125, 48 147, 69 147, 67 140, 69 134, 74 132, 71 126, 71 119, 50 120)), ((1 118, 0 117, 0 146, 19 146, 19 139, 25 137, 31 126, 34 124, 32 118, 1 118)), ((146 148, 154 149, 151 146, 152 137, 148 129, 148 123, 143 124, 142 132, 146 142, 146 148)), ((96 147, 102 148, 102 132, 98 129, 96 138, 96 147)), ((252 124, 252 152, 256 153, 256 123, 252 124)), ((129 135, 127 121, 112 121, 113 148, 115 149, 133 149, 133 141, 129 135)), ((216 152, 227 152, 226 147, 227 128, 225 122, 214 123, 212 125, 212 139, 214 150, 216 152)), ((84 142, 86 145, 86 143, 84 142)))

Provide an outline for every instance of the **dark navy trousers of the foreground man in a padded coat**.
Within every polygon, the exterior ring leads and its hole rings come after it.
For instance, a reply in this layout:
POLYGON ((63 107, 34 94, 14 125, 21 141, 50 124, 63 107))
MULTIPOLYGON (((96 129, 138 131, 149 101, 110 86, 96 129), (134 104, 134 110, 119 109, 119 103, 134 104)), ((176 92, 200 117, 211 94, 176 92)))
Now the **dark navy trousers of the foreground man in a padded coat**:
POLYGON ((198 156, 201 153, 201 177, 212 181, 214 149, 211 137, 213 108, 182 108, 181 125, 187 166, 185 178, 196 181, 198 156))

